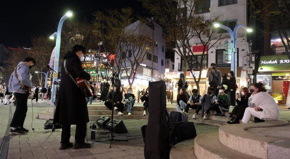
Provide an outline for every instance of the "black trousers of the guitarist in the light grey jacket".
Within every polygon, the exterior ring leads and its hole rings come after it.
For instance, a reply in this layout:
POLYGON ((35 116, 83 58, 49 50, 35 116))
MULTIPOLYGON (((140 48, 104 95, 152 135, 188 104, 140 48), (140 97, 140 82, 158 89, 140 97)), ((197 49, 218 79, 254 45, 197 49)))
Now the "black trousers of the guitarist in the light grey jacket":
POLYGON ((14 95, 17 102, 16 102, 16 109, 15 109, 12 121, 10 123, 10 127, 23 128, 23 124, 24 124, 26 112, 27 112, 28 94, 14 93, 14 95))

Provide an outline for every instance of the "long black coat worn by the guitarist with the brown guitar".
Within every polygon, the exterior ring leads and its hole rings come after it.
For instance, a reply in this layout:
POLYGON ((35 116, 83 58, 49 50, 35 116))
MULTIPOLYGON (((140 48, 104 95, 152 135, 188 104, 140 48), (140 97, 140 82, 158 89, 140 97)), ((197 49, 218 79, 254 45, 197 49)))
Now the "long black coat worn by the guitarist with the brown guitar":
MULTIPOLYGON (((66 66, 73 78, 81 77, 90 80, 91 76, 82 67, 78 56, 68 52, 64 55, 66 66)), ((53 122, 66 125, 85 124, 89 122, 88 106, 85 96, 82 94, 73 79, 66 74, 64 63, 61 67, 60 94, 56 102, 53 122)))

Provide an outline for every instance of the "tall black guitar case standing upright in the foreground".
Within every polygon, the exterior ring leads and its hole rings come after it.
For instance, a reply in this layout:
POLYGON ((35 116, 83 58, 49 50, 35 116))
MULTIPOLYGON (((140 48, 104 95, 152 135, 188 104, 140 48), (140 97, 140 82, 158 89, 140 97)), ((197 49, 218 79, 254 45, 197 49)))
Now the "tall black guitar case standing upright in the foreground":
POLYGON ((169 159, 169 114, 166 110, 166 86, 164 81, 149 83, 149 117, 145 139, 146 159, 169 159))

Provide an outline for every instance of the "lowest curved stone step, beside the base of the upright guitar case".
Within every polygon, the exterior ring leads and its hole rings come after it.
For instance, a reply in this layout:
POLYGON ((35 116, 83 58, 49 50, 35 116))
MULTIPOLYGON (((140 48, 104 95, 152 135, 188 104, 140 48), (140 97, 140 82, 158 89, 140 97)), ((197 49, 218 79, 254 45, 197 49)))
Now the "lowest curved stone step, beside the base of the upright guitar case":
POLYGON ((170 159, 197 159, 194 154, 194 139, 188 139, 174 145, 170 150, 170 159))

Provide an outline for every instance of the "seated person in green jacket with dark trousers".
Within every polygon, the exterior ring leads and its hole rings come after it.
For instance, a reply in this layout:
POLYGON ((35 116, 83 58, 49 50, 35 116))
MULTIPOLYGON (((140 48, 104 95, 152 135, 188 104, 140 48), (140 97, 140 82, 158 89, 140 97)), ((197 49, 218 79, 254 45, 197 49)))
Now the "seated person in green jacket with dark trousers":
POLYGON ((224 93, 224 87, 220 87, 219 89, 219 95, 217 97, 217 100, 214 104, 214 109, 216 110, 217 113, 215 113, 214 115, 217 116, 224 116, 224 112, 228 111, 228 96, 227 94, 224 93))

